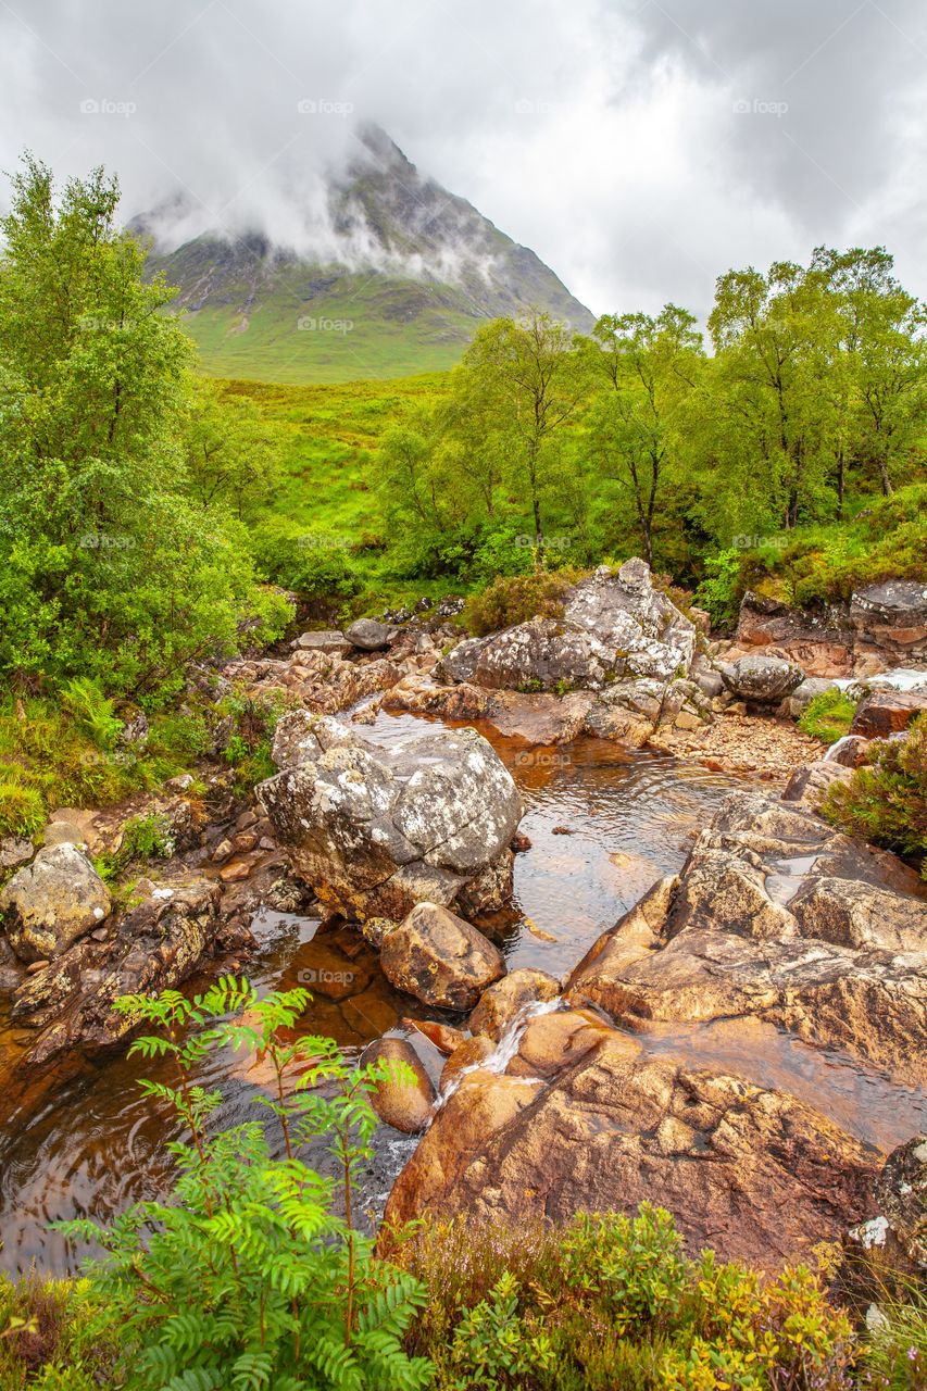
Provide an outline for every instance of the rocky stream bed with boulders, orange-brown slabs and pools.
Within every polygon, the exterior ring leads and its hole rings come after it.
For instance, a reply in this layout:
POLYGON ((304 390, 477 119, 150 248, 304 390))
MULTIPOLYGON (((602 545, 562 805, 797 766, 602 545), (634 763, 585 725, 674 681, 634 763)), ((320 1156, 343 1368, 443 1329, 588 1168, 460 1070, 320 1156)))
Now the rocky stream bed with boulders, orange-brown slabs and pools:
MULTIPOLYGON (((288 705, 253 796, 213 769, 205 807, 173 786, 0 846, 4 1256, 159 1182, 114 999, 238 968, 308 983, 306 1031, 413 1059, 379 1099, 388 1220, 649 1199, 764 1269, 850 1228, 923 1264, 924 885, 816 812, 927 707, 927 673, 873 669, 924 658, 927 597, 903 598, 863 597, 838 644, 747 597, 717 643, 632 561, 487 638, 426 613, 232 664, 288 705), (855 743, 825 758, 795 715, 853 679, 855 743), (92 857, 139 808, 174 854, 124 903, 92 857)), ((260 1079, 217 1066, 234 1116, 260 1079)))

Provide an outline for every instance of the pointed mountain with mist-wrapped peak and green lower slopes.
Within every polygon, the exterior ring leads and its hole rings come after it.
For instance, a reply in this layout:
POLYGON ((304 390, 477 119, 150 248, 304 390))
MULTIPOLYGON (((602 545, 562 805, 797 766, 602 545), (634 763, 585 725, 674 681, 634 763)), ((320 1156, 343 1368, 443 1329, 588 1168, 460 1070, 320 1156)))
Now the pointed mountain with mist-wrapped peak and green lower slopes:
POLYGON ((184 221, 173 198, 129 224, 152 242, 150 273, 216 376, 313 383, 451 367, 479 324, 543 309, 576 331, 594 319, 540 257, 466 199, 423 177, 379 127, 331 177, 306 236, 319 255, 266 232, 205 230, 168 249, 184 221))

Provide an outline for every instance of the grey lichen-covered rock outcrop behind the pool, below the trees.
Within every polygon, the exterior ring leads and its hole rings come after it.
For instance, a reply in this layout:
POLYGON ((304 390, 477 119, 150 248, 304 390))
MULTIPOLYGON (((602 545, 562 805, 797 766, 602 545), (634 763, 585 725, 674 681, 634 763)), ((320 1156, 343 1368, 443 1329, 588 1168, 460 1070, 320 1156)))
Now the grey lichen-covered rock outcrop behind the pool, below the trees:
POLYGON ((600 566, 573 586, 562 618, 534 618, 458 644, 441 672, 490 690, 601 690, 621 677, 665 684, 688 675, 695 645, 695 625, 653 588, 649 568, 635 559, 618 572, 600 566))

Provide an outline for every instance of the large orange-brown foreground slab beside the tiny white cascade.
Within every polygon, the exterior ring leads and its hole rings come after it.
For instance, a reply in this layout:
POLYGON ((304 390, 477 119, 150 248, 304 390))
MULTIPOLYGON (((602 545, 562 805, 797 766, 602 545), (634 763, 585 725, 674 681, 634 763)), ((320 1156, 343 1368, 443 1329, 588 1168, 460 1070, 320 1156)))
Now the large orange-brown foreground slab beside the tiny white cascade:
POLYGON ((710 1245, 771 1270, 866 1212, 877 1156, 802 1102, 649 1060, 582 1014, 555 1034, 557 1018, 528 1025, 504 1075, 461 1078, 399 1174, 387 1223, 427 1212, 564 1224, 647 1200, 674 1213, 693 1253, 710 1245))

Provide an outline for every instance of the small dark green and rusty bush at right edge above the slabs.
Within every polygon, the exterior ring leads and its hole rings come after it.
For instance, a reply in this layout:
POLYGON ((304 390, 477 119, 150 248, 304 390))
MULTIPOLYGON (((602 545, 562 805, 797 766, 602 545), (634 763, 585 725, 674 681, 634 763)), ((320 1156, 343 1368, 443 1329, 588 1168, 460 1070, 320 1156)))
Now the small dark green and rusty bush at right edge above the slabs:
POLYGON ((927 878, 927 718, 919 715, 905 739, 874 740, 869 765, 834 783, 821 811, 842 830, 921 858, 927 878))

